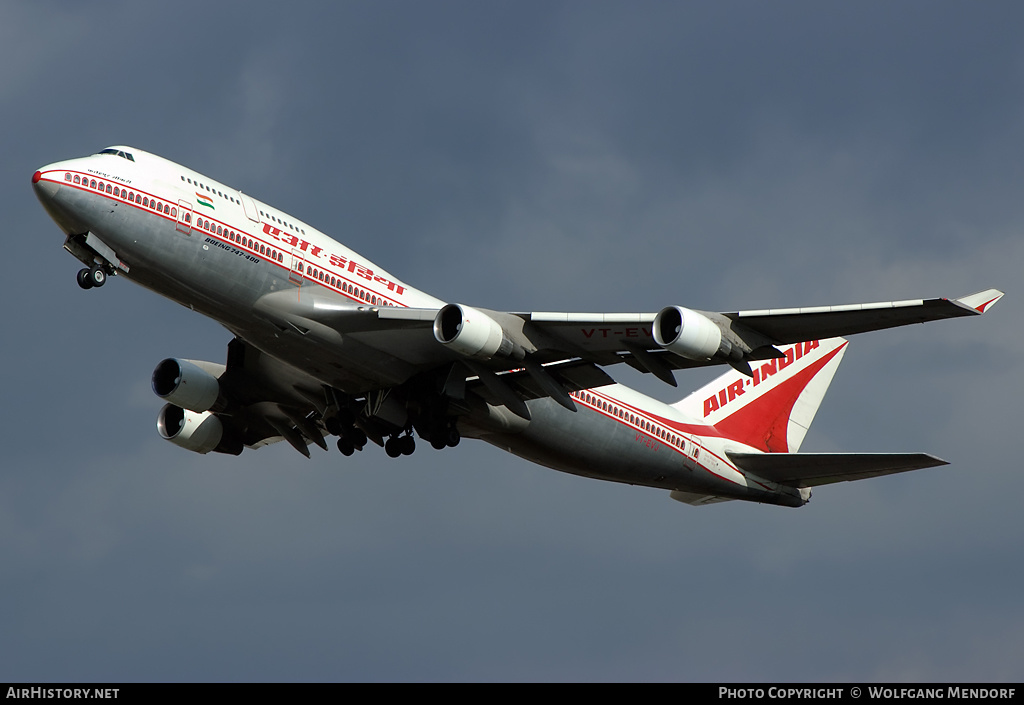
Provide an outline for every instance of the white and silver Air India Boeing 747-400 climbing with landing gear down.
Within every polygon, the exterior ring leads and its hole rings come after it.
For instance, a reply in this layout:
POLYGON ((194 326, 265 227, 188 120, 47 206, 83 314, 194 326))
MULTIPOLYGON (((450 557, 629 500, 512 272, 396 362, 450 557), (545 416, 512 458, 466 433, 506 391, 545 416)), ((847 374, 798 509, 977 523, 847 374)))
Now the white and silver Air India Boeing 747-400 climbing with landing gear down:
POLYGON ((926 453, 799 453, 844 336, 978 316, 1002 292, 732 313, 507 313, 426 294, 312 225, 154 154, 115 146, 49 164, 35 194, 84 263, 83 289, 124 277, 223 325, 224 364, 168 358, 153 373, 161 437, 239 455, 285 441, 310 457, 337 437, 391 457, 416 437, 483 440, 564 472, 668 490, 692 505, 798 507, 820 485, 947 464, 926 453), (626 364, 675 404, 614 383, 626 364))

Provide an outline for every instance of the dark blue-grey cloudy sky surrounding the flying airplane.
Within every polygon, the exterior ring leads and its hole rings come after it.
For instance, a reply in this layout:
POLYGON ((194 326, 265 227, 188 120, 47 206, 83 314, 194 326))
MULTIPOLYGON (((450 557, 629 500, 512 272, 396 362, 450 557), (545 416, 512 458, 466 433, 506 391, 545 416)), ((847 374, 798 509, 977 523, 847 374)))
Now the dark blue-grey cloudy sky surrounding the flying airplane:
POLYGON ((1020 680, 1022 27, 1016 2, 4 2, 0 681, 1020 680), (80 290, 30 186, 115 143, 493 308, 1008 295, 854 338, 803 450, 952 464, 801 509, 470 442, 204 457, 157 436, 150 374, 229 335, 80 290))

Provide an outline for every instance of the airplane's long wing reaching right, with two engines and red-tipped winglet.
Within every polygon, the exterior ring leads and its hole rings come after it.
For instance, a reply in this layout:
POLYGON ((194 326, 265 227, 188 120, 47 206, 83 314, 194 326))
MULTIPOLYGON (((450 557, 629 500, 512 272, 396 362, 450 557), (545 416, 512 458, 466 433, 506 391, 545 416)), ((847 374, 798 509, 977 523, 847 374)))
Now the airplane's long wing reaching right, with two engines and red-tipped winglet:
POLYGON ((540 389, 571 408, 565 390, 579 388, 580 381, 565 383, 549 370, 552 364, 625 362, 675 385, 674 370, 728 364, 750 374, 751 361, 782 356, 778 344, 978 316, 1001 296, 1001 291, 988 289, 959 299, 734 313, 669 306, 657 314, 517 314, 454 303, 437 309, 356 305, 328 291, 285 290, 261 297, 255 310, 282 330, 318 342, 323 369, 337 364, 339 345, 361 349, 367 364, 359 374, 368 389, 461 362, 492 399, 505 400, 505 406, 523 415, 523 405, 513 398, 531 398, 524 385, 510 392, 508 379, 499 376, 496 382, 489 373, 524 371, 530 393, 540 389))

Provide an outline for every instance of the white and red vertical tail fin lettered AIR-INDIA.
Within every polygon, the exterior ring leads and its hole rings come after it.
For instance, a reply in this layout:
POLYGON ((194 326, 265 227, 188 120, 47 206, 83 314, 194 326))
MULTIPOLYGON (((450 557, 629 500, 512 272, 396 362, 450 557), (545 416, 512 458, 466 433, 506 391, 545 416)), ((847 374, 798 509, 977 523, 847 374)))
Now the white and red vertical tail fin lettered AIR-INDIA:
POLYGON ((753 376, 731 370, 673 407, 760 451, 796 453, 847 344, 828 338, 786 345, 783 357, 752 361, 753 376))

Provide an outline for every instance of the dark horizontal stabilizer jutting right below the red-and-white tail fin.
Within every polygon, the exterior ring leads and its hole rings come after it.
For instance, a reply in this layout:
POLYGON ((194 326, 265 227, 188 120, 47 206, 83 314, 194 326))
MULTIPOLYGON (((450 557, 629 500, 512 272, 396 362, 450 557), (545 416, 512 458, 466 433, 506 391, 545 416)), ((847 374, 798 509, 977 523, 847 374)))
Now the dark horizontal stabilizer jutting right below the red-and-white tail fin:
POLYGON ((928 453, 727 453, 741 470, 793 487, 817 487, 850 480, 948 465, 928 453))

